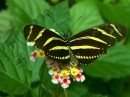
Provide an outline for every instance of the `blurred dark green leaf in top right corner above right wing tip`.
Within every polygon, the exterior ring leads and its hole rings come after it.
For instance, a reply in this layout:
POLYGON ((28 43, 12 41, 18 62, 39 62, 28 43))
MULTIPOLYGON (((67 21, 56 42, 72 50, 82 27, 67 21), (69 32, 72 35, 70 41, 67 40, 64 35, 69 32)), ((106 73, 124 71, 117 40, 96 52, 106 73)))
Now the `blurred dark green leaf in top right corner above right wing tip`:
POLYGON ((99 3, 99 8, 104 16, 109 22, 119 23, 129 27, 130 23, 126 21, 130 21, 130 8, 128 3, 121 4, 106 4, 99 3), (125 19, 125 20, 124 20, 125 19))

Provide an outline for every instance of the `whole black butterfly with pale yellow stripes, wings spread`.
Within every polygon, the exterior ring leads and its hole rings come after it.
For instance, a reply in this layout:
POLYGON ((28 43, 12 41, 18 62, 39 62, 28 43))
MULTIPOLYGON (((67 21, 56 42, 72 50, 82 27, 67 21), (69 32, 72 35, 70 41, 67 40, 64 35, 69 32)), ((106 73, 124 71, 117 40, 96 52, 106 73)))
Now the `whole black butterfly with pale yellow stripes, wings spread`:
MULTIPOLYGON (((24 27, 24 36, 29 42, 44 50, 45 55, 59 64, 68 65, 74 57, 79 64, 90 64, 107 53, 117 39, 126 36, 126 29, 118 24, 103 24, 68 38, 53 30, 30 24, 24 27)), ((66 36, 66 35, 65 35, 66 36)))

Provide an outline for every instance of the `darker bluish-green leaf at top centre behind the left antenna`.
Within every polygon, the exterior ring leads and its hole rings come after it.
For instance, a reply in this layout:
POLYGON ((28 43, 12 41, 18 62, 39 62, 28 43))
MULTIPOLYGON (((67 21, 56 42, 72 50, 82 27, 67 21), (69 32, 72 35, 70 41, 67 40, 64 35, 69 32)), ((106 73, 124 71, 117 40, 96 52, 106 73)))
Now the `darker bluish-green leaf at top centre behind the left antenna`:
POLYGON ((55 29, 61 36, 70 34, 70 14, 67 0, 39 15, 35 23, 48 29, 55 29))

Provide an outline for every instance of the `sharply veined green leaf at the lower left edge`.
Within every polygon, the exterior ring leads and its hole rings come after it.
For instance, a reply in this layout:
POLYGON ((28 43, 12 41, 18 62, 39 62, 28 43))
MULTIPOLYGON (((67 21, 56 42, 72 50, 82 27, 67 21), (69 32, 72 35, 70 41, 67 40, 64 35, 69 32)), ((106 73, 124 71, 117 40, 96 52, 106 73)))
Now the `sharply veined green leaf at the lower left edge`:
POLYGON ((30 90, 30 71, 27 60, 16 49, 0 44, 0 90, 23 94, 30 90))

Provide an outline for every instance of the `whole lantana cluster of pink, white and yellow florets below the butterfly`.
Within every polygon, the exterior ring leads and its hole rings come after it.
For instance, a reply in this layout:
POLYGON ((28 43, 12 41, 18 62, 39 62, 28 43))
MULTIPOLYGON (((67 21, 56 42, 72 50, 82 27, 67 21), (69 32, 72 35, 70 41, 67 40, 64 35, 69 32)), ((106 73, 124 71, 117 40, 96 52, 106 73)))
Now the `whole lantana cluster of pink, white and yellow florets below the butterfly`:
POLYGON ((82 74, 83 69, 77 65, 59 65, 57 62, 45 56, 44 51, 42 50, 34 50, 31 53, 30 59, 32 61, 36 61, 39 57, 45 59, 49 68, 48 73, 52 77, 52 83, 61 84, 63 88, 68 88, 71 83, 71 79, 77 82, 83 82, 85 80, 85 76, 82 74))

